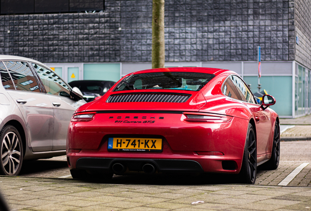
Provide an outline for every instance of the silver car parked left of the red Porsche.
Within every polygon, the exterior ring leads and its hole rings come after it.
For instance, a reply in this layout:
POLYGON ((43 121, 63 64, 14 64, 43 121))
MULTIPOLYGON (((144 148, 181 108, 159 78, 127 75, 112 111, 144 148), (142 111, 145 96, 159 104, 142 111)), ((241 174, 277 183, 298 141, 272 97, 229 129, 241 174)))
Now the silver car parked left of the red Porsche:
POLYGON ((73 112, 86 102, 35 60, 0 55, 0 174, 18 175, 23 160, 66 154, 73 112))

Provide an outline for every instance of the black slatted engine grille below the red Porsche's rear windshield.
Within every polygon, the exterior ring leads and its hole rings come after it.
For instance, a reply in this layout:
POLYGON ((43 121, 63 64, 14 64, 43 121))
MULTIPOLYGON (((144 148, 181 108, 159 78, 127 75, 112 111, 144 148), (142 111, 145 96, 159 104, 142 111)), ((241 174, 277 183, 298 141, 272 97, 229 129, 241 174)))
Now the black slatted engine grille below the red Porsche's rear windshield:
POLYGON ((107 99, 107 103, 124 103, 124 102, 165 102, 165 103, 184 103, 191 95, 189 94, 120 94, 111 95, 107 99))

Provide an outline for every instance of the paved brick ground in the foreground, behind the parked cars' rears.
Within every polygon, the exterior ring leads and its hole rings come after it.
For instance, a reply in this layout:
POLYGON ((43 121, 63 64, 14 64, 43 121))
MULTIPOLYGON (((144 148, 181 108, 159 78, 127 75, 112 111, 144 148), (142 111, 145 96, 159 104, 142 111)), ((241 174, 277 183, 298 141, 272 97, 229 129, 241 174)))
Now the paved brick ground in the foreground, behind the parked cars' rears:
POLYGON ((310 210, 311 188, 260 185, 98 184, 72 179, 0 177, 12 210, 310 210), (192 204, 193 202, 201 203, 192 204))

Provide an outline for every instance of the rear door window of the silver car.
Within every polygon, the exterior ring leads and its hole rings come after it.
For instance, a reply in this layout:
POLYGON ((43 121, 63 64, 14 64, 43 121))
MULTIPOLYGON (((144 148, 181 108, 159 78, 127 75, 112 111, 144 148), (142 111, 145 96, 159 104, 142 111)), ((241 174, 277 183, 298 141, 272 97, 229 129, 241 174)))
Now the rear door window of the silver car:
MULTIPOLYGON (((26 62, 4 62, 13 79, 16 90, 40 92, 39 86, 26 62)), ((2 79, 2 76, 1 76, 2 79)), ((3 82, 2 82, 3 83, 3 82)), ((8 81, 8 83, 10 83, 8 81)), ((10 88, 14 89, 14 88, 10 88)))

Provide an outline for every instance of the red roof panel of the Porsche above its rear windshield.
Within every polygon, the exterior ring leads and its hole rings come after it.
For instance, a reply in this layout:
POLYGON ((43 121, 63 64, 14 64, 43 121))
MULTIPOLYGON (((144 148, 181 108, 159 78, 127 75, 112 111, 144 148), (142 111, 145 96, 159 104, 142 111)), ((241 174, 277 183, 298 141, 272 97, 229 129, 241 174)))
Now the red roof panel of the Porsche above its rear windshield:
POLYGON ((149 72, 201 72, 201 73, 214 74, 215 76, 217 76, 225 71, 229 70, 211 67, 164 67, 164 68, 140 70, 133 72, 131 74, 140 74, 149 72))

